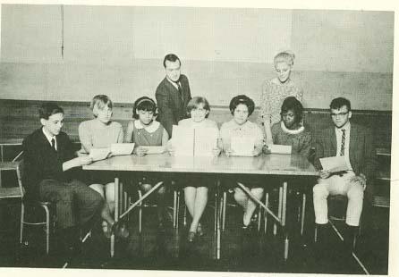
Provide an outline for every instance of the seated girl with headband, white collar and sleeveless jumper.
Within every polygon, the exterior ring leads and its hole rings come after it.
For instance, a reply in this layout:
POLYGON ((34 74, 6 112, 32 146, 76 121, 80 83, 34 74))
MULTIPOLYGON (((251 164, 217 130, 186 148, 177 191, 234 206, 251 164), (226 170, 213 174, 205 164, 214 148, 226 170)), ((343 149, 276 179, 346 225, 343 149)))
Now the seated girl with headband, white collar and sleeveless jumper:
MULTIPOLYGON (((129 122, 124 137, 125 142, 135 143, 133 154, 146 155, 148 151, 146 147, 166 147, 169 136, 165 128, 155 121, 156 111, 157 105, 149 97, 140 97, 134 102, 134 120, 129 122)), ((147 192, 157 183, 157 178, 143 176, 138 182, 140 189, 147 192)), ((157 216, 161 229, 164 226, 165 193, 165 186, 157 190, 157 216)))

